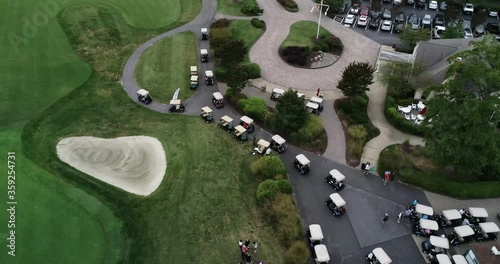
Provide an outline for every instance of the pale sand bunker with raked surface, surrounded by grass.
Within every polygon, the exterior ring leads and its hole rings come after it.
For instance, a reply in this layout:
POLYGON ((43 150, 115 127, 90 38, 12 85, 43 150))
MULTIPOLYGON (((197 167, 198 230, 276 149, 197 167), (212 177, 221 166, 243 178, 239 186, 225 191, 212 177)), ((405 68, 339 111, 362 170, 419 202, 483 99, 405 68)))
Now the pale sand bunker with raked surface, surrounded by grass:
POLYGON ((69 137, 56 149, 71 167, 138 195, 154 192, 167 169, 161 142, 152 137, 69 137))

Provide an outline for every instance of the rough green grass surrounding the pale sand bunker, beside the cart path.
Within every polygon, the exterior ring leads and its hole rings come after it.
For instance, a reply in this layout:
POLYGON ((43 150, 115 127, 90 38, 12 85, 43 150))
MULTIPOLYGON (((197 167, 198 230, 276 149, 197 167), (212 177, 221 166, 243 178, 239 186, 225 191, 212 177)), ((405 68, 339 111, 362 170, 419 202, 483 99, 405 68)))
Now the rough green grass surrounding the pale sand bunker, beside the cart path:
MULTIPOLYGON (((82 10, 75 8, 71 12, 82 10)), ((282 263, 283 250, 272 228, 262 223, 256 213, 258 183, 250 175, 250 144, 241 145, 199 117, 158 114, 131 102, 122 87, 108 78, 105 69, 112 71, 115 66, 106 60, 106 54, 115 49, 130 54, 130 43, 146 38, 148 32, 134 31, 119 17, 96 23, 69 20, 72 17, 61 17, 68 38, 94 68, 104 70, 96 71, 84 85, 28 124, 23 133, 23 150, 29 158, 109 204, 129 236, 129 262, 236 262, 240 259, 236 242, 249 238, 261 244, 258 258, 282 263), (120 41, 96 34, 92 41, 79 42, 78 36, 87 30, 111 30, 117 32, 120 41), (95 44, 109 52, 83 52, 95 44), (146 198, 137 197, 62 163, 55 153, 58 140, 84 135, 158 138, 168 160, 158 190, 146 198)), ((123 63, 126 56, 120 58, 123 63)))

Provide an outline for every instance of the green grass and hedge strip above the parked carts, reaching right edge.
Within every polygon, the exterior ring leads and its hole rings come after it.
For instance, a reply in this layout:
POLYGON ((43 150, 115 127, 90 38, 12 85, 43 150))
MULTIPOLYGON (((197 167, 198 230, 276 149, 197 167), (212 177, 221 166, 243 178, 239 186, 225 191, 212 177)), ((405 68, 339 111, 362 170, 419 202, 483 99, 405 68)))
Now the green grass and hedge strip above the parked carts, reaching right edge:
POLYGON ((461 199, 500 197, 500 182, 461 177, 435 164, 422 147, 391 145, 380 153, 378 174, 396 172, 397 180, 425 190, 461 199))

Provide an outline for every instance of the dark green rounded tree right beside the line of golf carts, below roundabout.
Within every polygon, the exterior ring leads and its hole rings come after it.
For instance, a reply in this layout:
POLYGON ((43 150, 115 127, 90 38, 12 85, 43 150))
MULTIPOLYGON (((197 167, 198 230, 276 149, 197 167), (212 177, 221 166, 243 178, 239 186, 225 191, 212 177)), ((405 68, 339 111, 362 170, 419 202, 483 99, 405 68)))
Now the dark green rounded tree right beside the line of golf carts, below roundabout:
POLYGON ((301 129, 309 120, 304 101, 296 91, 286 91, 276 104, 276 115, 273 119, 274 129, 288 134, 301 129))

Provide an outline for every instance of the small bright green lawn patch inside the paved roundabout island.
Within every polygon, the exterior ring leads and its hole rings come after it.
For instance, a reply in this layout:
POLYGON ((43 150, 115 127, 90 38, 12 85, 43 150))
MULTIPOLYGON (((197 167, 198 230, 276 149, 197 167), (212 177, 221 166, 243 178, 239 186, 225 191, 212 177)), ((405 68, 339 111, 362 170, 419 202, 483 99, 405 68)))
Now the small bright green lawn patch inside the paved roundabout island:
MULTIPOLYGON (((316 38, 316 31, 318 29, 318 24, 312 21, 299 21, 295 22, 290 27, 290 33, 281 44, 282 48, 289 46, 299 46, 299 47, 313 47, 313 40, 316 38)), ((319 30, 320 35, 328 35, 331 36, 330 32, 328 32, 323 27, 320 27, 319 30)))

